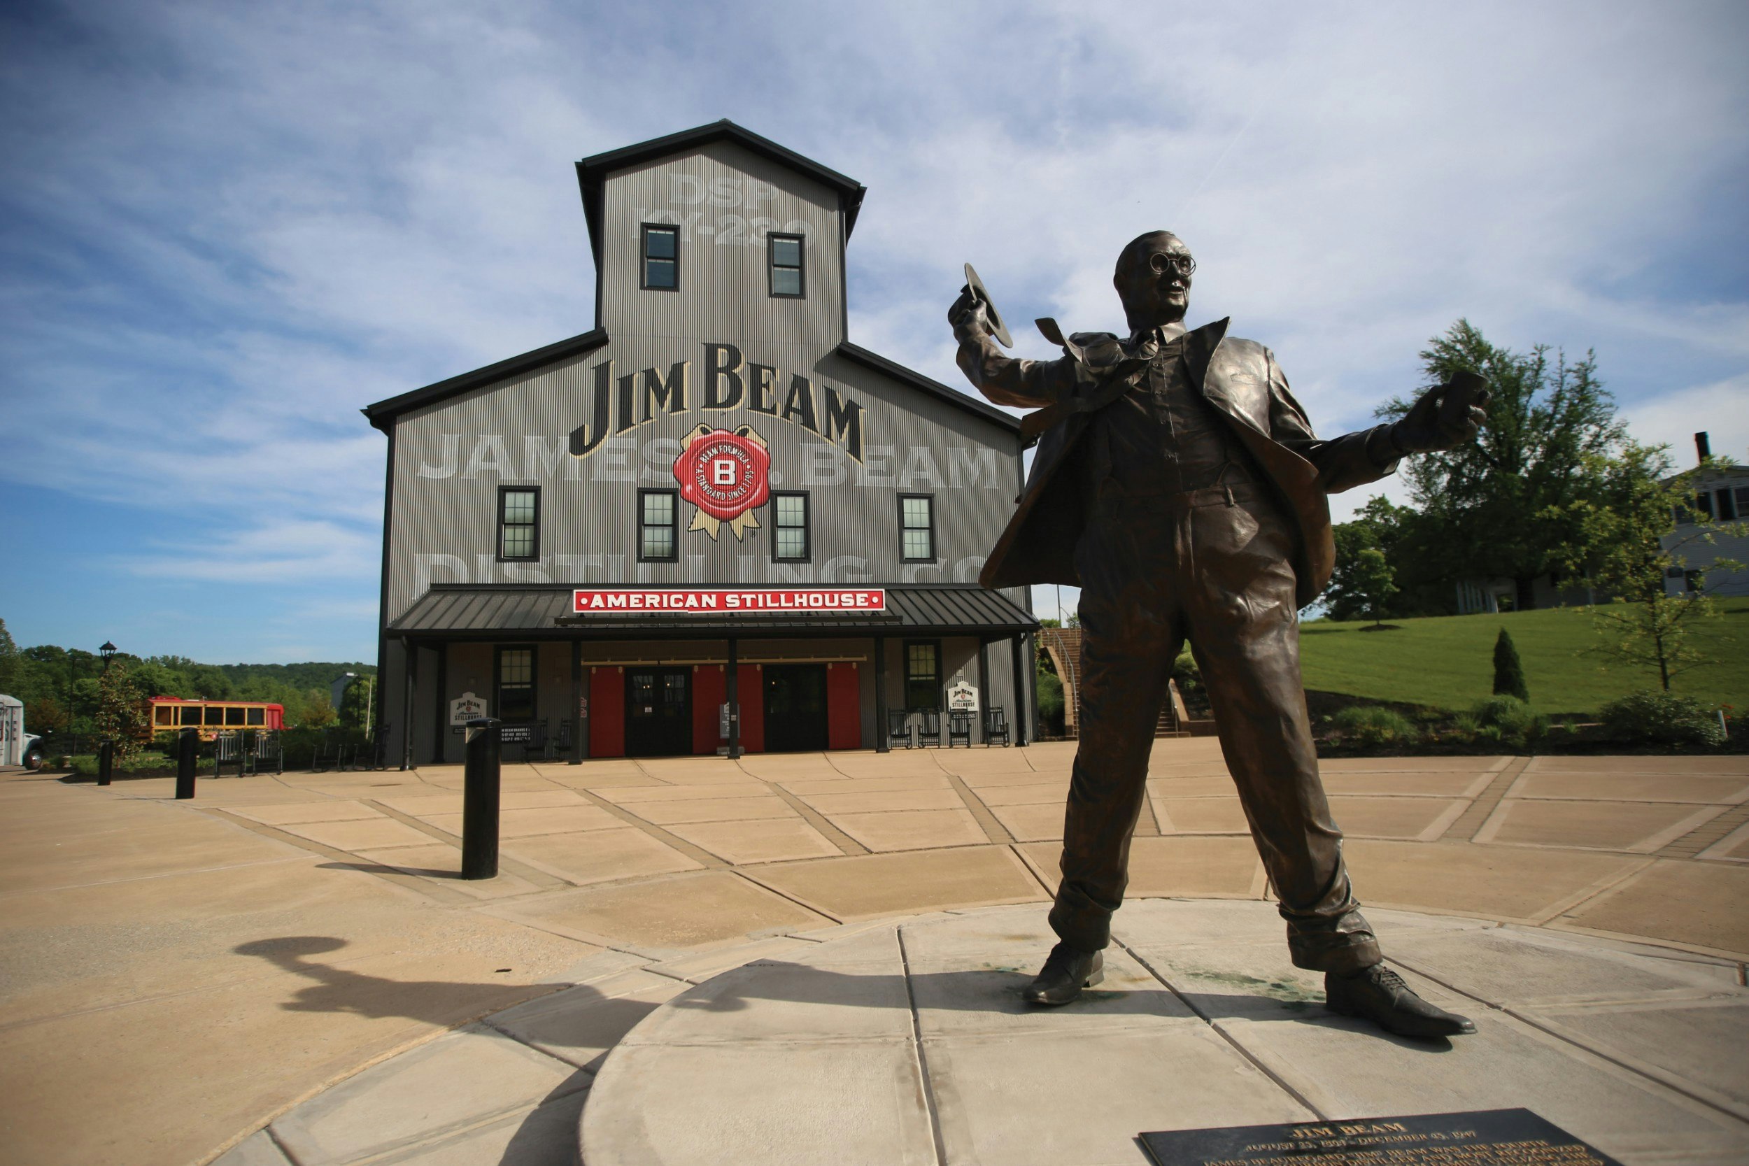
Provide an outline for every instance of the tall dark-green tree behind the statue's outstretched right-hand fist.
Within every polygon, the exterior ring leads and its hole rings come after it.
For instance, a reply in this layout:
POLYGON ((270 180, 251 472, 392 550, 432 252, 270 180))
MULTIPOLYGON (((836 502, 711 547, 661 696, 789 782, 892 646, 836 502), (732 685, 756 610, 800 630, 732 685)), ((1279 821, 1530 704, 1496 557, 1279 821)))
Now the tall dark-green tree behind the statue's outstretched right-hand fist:
MULTIPOLYGON (((1469 320, 1436 336, 1420 357, 1432 383, 1471 371, 1492 388, 1478 441, 1404 462, 1413 502, 1438 535, 1420 552, 1446 580, 1515 580, 1516 607, 1529 610, 1532 582, 1583 540, 1572 507, 1590 488, 1586 468, 1627 435, 1614 399, 1593 353, 1572 364, 1548 344, 1516 353, 1469 320)), ((1411 404, 1396 399, 1378 413, 1403 416, 1411 404)))

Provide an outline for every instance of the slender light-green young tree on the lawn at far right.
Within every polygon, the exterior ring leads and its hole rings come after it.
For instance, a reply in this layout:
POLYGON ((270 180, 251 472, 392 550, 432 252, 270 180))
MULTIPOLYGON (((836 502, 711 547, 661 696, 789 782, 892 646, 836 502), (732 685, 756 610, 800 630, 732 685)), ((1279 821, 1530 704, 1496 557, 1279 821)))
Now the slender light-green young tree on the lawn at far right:
POLYGON ((1595 591, 1614 596, 1592 608, 1606 661, 1656 671, 1660 687, 1714 663, 1702 652, 1695 631, 1721 619, 1718 603, 1705 593, 1705 575, 1742 570, 1733 559, 1714 559, 1690 568, 1690 554, 1714 545, 1718 533, 1740 535, 1742 523, 1718 523, 1691 514, 1695 477, 1718 468, 1707 462, 1684 474, 1669 475, 1670 456, 1663 446, 1625 442, 1620 453, 1592 455, 1586 477, 1592 489, 1569 503, 1564 521, 1578 537, 1562 551, 1569 570, 1583 572, 1595 591), (1677 514, 1686 521, 1676 521, 1677 514), (1669 591, 1665 580, 1681 579, 1669 591), (1686 586, 1693 579, 1695 591, 1686 586))

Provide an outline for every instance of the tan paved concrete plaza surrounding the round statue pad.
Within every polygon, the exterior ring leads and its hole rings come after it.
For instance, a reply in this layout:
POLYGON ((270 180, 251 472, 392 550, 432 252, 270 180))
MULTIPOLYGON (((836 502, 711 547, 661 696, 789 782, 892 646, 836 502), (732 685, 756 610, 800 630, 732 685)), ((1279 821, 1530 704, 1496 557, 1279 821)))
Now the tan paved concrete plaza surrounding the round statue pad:
MULTIPOLYGON (((1037 930, 1072 748, 505 766, 486 883, 456 878, 458 767, 203 778, 192 802, 168 780, 9 773, 0 1156, 575 1154, 603 1056, 719 972, 944 911, 1021 906, 1037 930), (516 1035, 542 1007, 561 1049, 516 1035)), ((1655 947, 1742 984, 1749 759, 1324 771, 1369 906, 1655 947)), ((1230 900, 1268 923, 1216 743, 1160 741, 1149 792, 1132 899, 1230 900)), ((1133 904, 1119 939, 1165 907, 1133 904)), ((1014 961, 1042 956, 1027 935, 1014 961)), ((1744 1012, 1716 1010, 1737 1033, 1744 1012)), ((1702 1086, 1721 1114, 1749 1072, 1733 1047, 1702 1086)))

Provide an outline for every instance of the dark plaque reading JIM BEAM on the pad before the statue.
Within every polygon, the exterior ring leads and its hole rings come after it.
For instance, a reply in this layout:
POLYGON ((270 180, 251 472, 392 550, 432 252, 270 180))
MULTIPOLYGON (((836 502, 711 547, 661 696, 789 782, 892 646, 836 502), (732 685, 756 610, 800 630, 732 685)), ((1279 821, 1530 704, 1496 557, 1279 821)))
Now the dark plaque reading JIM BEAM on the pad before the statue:
POLYGON ((1160 1166, 1621 1166, 1530 1110, 1144 1133, 1160 1166))

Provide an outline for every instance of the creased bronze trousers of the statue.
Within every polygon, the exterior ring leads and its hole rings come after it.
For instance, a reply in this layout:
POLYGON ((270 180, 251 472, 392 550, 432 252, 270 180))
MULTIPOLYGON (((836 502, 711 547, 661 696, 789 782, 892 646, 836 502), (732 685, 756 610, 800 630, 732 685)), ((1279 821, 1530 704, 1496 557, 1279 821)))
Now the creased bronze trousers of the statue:
POLYGON ((1081 745, 1051 909, 1065 942, 1111 942, 1154 725, 1189 638, 1294 963, 1334 972, 1378 963, 1319 780, 1300 682, 1293 538, 1268 488, 1249 482, 1105 495, 1090 507, 1076 547, 1081 745))

